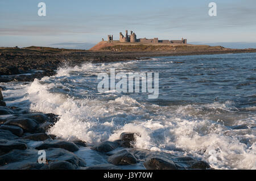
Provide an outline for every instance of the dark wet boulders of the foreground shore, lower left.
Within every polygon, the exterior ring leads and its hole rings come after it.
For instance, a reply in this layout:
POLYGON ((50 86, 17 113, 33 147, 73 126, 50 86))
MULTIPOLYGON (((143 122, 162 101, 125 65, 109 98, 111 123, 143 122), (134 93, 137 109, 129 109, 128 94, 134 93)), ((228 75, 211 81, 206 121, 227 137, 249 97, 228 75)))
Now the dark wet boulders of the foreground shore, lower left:
POLYGON ((119 140, 87 145, 82 140, 63 140, 47 131, 58 116, 7 107, 0 91, 0 170, 118 170, 120 166, 143 164, 149 170, 210 169, 207 162, 192 157, 141 150, 133 147, 138 133, 122 133, 119 140), (86 166, 77 151, 88 148, 108 163, 86 166), (39 163, 39 150, 46 163, 39 163))

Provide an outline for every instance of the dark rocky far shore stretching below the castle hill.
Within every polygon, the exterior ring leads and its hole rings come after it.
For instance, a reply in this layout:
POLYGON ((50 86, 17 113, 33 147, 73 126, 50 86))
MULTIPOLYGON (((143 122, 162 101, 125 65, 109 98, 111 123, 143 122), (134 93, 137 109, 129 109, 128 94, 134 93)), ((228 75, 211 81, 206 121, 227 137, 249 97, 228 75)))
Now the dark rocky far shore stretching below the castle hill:
POLYGON ((35 78, 52 76, 62 65, 76 66, 84 62, 104 63, 140 60, 150 57, 188 56, 201 54, 255 53, 256 49, 212 49, 174 51, 111 51, 57 48, 0 49, 0 82, 31 82, 35 78))

